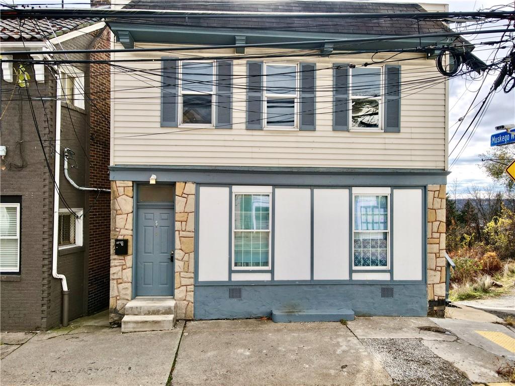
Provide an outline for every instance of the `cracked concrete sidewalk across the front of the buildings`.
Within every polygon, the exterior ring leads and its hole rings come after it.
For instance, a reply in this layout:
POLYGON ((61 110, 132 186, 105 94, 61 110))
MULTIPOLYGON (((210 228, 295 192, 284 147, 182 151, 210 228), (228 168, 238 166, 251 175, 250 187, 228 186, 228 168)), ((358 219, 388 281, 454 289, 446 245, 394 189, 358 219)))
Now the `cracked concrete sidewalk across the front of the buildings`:
POLYGON ((344 324, 195 321, 179 322, 171 331, 121 334, 119 328, 109 326, 103 313, 47 332, 2 333, 2 384, 471 386, 472 382, 503 382, 496 370, 513 362, 503 341, 496 338, 504 334, 513 339, 512 331, 484 311, 453 309, 450 315, 454 319, 362 317, 344 324), (476 331, 492 332, 493 340, 476 331))

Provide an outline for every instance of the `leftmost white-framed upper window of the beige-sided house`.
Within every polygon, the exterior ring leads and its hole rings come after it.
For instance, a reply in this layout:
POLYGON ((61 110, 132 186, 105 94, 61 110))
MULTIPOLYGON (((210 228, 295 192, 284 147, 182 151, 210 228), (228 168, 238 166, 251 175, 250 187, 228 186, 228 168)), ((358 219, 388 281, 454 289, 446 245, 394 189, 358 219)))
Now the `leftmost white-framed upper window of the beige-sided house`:
POLYGON ((214 67, 213 62, 180 62, 180 125, 213 125, 214 67))

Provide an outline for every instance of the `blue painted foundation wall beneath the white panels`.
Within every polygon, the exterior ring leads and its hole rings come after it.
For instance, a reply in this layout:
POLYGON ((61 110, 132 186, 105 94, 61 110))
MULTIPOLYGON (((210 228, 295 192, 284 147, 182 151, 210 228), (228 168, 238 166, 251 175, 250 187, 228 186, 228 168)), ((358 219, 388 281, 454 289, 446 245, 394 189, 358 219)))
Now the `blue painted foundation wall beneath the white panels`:
POLYGON ((349 309, 356 316, 427 315, 425 284, 292 284, 195 286, 195 319, 271 317, 274 310, 349 309), (381 297, 392 287, 393 297, 381 297), (230 299, 229 289, 241 288, 241 299, 230 299))

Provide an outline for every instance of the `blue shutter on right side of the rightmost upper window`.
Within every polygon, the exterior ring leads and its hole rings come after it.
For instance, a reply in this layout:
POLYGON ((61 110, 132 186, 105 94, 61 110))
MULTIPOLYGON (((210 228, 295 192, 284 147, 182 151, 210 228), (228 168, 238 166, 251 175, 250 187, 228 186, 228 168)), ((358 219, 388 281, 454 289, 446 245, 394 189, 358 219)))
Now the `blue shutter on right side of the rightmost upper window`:
POLYGON ((385 132, 401 131, 401 66, 385 66, 385 132))

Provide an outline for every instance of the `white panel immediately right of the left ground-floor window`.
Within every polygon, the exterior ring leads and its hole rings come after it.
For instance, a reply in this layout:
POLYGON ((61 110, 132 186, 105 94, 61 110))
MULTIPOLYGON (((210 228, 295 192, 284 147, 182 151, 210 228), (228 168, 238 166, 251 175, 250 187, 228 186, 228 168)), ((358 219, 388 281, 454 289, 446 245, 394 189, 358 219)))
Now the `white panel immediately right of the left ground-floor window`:
POLYGON ((311 279, 311 189, 276 189, 274 279, 311 279))

